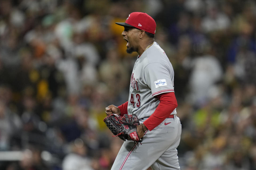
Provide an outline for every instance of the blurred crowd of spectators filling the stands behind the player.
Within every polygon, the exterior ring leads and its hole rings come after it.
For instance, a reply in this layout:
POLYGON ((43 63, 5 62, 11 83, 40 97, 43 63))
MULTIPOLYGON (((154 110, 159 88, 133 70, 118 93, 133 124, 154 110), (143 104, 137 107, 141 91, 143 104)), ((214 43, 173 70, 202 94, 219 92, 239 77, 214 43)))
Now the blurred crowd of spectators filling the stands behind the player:
POLYGON ((0 169, 110 169, 105 107, 128 100, 137 56, 115 22, 135 11, 174 68, 181 169, 256 169, 253 0, 0 0, 0 152, 22 152, 0 169))

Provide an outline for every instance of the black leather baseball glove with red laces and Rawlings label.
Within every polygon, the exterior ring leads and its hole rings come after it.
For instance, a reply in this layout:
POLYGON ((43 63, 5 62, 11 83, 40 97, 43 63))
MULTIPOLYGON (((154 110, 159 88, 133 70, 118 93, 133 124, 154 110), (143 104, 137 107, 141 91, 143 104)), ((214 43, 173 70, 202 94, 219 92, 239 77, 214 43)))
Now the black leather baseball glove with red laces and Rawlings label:
POLYGON ((118 136, 123 141, 142 142, 143 138, 140 139, 137 133, 137 126, 140 123, 136 114, 125 114, 124 116, 110 114, 103 121, 114 136, 118 136))

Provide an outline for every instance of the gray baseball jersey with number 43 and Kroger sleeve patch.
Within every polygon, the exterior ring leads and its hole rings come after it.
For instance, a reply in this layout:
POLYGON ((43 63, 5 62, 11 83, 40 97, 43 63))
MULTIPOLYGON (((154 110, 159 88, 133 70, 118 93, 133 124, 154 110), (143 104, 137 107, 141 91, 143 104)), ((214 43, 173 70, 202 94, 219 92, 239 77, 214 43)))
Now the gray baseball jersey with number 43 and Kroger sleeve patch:
MULTIPOLYGON (((128 114, 149 117, 157 108, 157 95, 174 92, 174 71, 164 50, 154 42, 135 62, 131 75, 128 114)), ((176 109, 173 113, 176 114, 176 109)))

